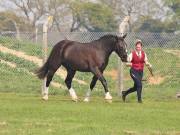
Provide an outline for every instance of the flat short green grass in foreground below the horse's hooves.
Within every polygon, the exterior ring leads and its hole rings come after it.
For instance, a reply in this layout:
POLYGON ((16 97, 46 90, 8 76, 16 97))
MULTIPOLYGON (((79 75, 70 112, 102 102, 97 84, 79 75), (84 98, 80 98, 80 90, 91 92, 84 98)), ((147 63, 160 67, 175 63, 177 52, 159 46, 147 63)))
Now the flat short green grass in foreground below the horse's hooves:
POLYGON ((177 135, 180 100, 74 103, 66 96, 0 93, 1 135, 177 135))

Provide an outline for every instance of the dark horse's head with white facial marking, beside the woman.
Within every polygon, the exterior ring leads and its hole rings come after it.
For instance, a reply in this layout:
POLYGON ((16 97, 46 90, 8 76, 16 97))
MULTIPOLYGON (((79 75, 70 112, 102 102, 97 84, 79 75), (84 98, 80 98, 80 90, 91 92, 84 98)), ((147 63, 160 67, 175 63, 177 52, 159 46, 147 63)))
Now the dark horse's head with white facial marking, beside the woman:
POLYGON ((127 62, 127 44, 124 41, 126 36, 127 34, 122 37, 118 37, 115 45, 115 52, 121 58, 122 62, 127 62))

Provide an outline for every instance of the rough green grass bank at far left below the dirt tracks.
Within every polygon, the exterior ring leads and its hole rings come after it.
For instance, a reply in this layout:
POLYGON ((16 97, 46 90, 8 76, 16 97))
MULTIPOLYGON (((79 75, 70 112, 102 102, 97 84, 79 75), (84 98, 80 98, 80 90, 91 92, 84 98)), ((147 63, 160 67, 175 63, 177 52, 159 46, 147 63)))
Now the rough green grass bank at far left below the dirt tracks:
POLYGON ((37 93, 40 92, 40 80, 36 79, 24 68, 10 68, 5 64, 0 64, 0 91, 37 93), (37 88, 39 87, 39 90, 37 88))

